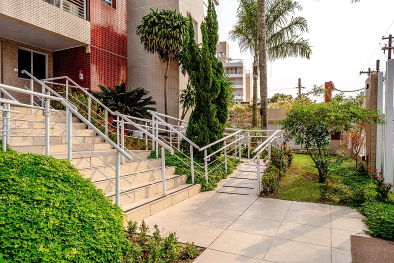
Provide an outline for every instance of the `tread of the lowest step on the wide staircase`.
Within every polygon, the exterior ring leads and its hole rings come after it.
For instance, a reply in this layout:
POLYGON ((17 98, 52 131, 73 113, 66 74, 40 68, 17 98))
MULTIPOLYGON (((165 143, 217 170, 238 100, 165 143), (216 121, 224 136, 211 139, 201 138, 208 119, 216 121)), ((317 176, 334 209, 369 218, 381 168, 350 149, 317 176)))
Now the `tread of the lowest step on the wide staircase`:
POLYGON ((138 200, 138 201, 126 204, 126 205, 122 205, 121 208, 123 209, 123 211, 125 213, 127 213, 127 212, 130 212, 130 211, 135 210, 137 208, 142 208, 146 205, 150 205, 156 201, 159 201, 159 200, 162 200, 165 198, 171 198, 171 196, 173 194, 178 193, 183 190, 188 190, 192 187, 200 187, 200 185, 199 184, 192 184, 192 183, 184 183, 182 185, 168 189, 166 191, 166 193, 167 193, 166 195, 162 195, 162 193, 156 193, 156 194, 146 197, 144 199, 141 199, 141 200, 138 200))

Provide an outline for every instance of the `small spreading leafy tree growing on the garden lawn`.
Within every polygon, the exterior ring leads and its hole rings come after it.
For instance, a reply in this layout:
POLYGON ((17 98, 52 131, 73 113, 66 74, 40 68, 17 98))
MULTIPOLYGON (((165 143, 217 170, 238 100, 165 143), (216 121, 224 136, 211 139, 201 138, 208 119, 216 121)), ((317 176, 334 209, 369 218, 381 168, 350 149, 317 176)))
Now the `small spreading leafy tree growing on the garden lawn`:
POLYGON ((304 145, 316 164, 319 182, 328 174, 331 134, 349 131, 360 123, 383 123, 383 116, 376 109, 363 108, 358 98, 336 95, 331 102, 316 103, 307 100, 293 104, 281 121, 286 139, 304 145))

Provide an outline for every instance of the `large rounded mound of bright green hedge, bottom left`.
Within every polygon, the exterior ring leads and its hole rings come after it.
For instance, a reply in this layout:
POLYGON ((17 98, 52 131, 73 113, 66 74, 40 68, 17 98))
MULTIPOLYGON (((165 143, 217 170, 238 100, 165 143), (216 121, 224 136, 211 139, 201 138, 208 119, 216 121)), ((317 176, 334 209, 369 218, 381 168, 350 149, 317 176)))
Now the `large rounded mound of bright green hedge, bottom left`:
POLYGON ((123 211, 67 161, 0 152, 1 262, 122 262, 123 211))

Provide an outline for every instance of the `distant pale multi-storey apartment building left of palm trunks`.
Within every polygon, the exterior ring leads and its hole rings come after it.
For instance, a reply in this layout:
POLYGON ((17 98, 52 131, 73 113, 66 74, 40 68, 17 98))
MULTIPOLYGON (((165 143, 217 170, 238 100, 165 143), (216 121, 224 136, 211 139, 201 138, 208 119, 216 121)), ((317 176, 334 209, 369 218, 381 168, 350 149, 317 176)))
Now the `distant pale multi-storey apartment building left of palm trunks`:
POLYGON ((219 42, 217 58, 223 63, 224 72, 229 75, 234 84, 232 92, 234 102, 250 102, 250 72, 247 80, 246 67, 243 60, 233 59, 229 56, 229 46, 226 41, 219 42), (249 90, 246 88, 247 81, 249 90))

